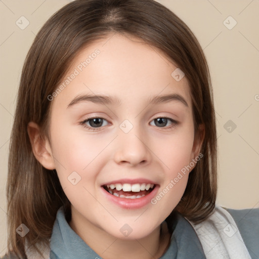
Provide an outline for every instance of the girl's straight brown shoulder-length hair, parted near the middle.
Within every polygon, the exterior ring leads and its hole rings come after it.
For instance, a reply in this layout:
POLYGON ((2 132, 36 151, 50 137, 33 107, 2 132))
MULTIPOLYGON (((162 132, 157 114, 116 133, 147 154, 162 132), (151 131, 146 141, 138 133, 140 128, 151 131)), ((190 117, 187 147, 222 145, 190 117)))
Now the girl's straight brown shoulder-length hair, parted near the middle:
POLYGON ((49 139, 48 96, 58 88, 82 49, 113 33, 137 37, 175 62, 188 80, 195 134, 198 126, 204 124, 200 150, 203 158, 189 174, 183 197, 166 218, 167 224, 172 224, 175 211, 195 224, 214 211, 215 112, 209 68, 197 38, 177 15, 153 0, 76 0, 42 26, 22 69, 8 164, 8 252, 24 258, 28 243, 40 253, 37 244, 49 245, 56 214, 62 205, 66 220, 71 220, 70 201, 57 172, 46 169, 34 157, 27 125, 34 121, 42 131, 42 138, 49 139), (25 237, 16 233, 22 223, 29 228, 25 237))

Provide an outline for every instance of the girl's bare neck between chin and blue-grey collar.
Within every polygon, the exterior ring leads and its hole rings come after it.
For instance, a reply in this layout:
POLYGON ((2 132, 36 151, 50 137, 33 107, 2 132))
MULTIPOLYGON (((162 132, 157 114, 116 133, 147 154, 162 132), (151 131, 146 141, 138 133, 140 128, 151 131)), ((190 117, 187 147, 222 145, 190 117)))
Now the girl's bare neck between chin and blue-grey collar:
POLYGON ((159 225, 152 233, 141 239, 125 240, 116 238, 78 213, 72 213, 70 227, 80 238, 104 259, 156 259, 167 250, 170 234, 167 224, 159 225))

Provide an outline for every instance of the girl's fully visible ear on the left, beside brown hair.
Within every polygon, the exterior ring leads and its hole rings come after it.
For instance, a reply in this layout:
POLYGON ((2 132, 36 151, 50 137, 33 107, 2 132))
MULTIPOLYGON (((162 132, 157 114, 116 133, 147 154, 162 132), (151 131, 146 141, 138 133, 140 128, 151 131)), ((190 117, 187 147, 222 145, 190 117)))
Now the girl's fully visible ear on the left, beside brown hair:
POLYGON ((41 136, 40 128, 35 122, 29 122, 27 132, 35 158, 49 170, 55 169, 55 161, 48 140, 41 136))

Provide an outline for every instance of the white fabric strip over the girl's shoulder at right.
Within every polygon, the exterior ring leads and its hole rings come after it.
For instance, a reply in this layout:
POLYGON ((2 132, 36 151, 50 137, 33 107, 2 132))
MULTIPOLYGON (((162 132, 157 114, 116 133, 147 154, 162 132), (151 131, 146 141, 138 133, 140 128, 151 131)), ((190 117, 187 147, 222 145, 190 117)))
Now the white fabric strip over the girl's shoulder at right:
POLYGON ((251 259, 231 214, 216 206, 205 221, 194 225, 207 259, 251 259))

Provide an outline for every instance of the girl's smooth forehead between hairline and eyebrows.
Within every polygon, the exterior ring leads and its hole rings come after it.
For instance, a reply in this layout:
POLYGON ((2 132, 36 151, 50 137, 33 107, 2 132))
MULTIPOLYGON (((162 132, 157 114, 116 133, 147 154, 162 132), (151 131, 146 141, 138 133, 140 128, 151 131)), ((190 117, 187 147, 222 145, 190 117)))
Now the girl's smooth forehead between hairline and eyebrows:
POLYGON ((54 103, 68 105, 80 94, 116 96, 128 104, 179 94, 191 107, 188 81, 185 77, 176 80, 174 71, 177 65, 153 46, 136 37, 112 34, 77 54, 54 103))

